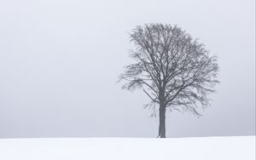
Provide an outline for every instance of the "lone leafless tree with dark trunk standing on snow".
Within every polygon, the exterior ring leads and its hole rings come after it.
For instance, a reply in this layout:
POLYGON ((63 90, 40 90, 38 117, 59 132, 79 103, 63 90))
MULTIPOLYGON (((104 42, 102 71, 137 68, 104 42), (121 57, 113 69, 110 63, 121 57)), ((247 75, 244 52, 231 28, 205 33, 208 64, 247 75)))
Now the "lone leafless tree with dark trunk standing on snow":
POLYGON ((159 106, 158 137, 165 138, 166 108, 200 116, 199 106, 210 105, 207 95, 218 83, 217 57, 177 26, 137 26, 130 36, 135 63, 125 66, 119 81, 125 80, 123 89, 143 89, 151 100, 147 106, 159 106))

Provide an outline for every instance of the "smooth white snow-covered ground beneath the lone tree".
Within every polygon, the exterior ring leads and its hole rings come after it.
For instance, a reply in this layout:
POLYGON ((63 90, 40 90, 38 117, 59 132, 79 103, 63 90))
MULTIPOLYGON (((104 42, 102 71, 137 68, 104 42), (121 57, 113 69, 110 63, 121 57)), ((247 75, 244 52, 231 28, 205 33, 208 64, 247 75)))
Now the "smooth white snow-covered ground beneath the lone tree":
POLYGON ((255 136, 0 139, 1 160, 255 160, 255 136))

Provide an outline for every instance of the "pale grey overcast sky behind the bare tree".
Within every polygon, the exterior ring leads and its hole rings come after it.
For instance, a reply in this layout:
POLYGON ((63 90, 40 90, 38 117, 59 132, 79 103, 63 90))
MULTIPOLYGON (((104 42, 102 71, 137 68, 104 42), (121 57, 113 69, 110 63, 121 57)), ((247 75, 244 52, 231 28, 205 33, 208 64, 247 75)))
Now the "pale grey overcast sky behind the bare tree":
POLYGON ((0 138, 156 137, 143 91, 122 90, 128 31, 177 24, 219 57, 218 91, 167 135, 255 134, 254 0, 0 0, 0 138))

